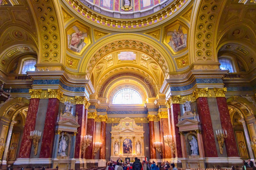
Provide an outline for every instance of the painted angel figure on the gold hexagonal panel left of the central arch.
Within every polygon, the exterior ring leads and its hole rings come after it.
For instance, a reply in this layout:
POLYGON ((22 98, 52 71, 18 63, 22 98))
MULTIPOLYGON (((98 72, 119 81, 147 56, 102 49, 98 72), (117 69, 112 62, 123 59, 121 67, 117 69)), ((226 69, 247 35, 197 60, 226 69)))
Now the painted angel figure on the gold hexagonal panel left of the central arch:
POLYGON ((75 32, 72 32, 70 35, 68 35, 68 48, 77 53, 80 53, 86 45, 84 39, 87 38, 87 32, 80 31, 79 28, 75 25, 72 27, 72 29, 75 32))

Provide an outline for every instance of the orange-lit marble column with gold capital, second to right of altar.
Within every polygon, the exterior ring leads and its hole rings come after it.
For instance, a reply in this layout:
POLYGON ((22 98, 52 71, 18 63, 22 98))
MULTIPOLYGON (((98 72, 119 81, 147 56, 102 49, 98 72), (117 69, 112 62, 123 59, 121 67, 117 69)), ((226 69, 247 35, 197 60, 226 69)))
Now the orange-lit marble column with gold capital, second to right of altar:
MULTIPOLYGON (((161 135, 161 142, 163 142, 163 147, 164 149, 163 152, 163 158, 169 159, 172 158, 172 153, 171 153, 171 148, 167 143, 164 143, 164 136, 165 135, 170 135, 169 132, 169 120, 168 120, 168 112, 167 111, 161 111, 158 113, 158 117, 160 118, 160 122, 162 123, 162 127, 160 126, 160 129, 162 128, 162 134, 161 135)), ((161 124, 160 124, 161 125, 161 124)))

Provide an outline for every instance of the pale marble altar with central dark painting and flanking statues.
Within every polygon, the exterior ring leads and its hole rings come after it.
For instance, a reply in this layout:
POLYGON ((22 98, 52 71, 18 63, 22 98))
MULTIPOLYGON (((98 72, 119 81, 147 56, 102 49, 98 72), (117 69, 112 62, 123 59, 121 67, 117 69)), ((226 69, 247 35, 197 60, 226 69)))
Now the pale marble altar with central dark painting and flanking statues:
POLYGON ((137 125, 135 120, 125 117, 119 124, 111 128, 111 160, 118 158, 130 159, 135 157, 144 160, 144 131, 143 126, 137 125))

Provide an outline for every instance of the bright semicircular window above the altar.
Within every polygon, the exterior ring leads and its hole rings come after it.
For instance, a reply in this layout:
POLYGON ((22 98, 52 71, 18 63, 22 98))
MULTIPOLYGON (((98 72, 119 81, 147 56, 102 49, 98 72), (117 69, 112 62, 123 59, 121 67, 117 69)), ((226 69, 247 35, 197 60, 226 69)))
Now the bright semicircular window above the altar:
POLYGON ((142 99, 137 91, 125 88, 116 92, 112 104, 142 104, 142 99))

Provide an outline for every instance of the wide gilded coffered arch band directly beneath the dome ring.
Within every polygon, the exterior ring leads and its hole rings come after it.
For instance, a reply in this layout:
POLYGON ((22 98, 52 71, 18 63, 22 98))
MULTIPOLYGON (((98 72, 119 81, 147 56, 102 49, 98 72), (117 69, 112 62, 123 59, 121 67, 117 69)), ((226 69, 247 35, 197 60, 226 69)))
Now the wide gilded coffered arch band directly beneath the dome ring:
POLYGON ((90 77, 91 70, 103 57, 118 50, 129 51, 129 49, 145 53, 154 59, 165 75, 175 71, 169 53, 160 44, 146 36, 132 33, 116 34, 96 43, 84 54, 79 71, 89 74, 90 77))

